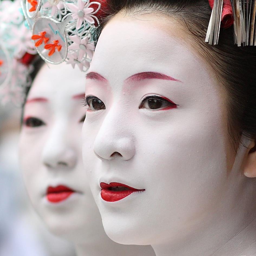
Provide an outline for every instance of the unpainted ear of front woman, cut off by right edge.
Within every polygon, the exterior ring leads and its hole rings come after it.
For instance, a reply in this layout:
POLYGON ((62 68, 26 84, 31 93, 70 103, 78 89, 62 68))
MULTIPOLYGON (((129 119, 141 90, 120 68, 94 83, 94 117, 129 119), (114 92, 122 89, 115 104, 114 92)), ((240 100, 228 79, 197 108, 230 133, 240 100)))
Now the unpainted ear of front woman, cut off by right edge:
POLYGON ((244 158, 244 175, 249 178, 256 177, 256 141, 251 141, 244 158))

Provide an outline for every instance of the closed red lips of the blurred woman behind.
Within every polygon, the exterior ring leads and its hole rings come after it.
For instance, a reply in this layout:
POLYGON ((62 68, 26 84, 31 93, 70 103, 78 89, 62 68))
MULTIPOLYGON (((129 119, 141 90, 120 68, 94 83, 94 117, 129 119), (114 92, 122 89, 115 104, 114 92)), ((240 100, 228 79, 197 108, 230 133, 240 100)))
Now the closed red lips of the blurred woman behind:
POLYGON ((70 195, 74 193, 74 190, 69 187, 60 185, 57 187, 48 187, 46 191, 46 196, 49 202, 59 203, 66 200, 70 195))

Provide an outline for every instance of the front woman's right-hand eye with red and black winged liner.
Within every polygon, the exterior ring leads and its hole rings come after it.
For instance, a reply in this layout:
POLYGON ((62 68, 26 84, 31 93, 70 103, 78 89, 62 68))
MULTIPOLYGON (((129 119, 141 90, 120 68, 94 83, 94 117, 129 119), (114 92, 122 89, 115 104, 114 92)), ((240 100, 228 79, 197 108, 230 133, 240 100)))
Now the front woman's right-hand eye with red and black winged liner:
POLYGON ((157 95, 150 95, 147 96, 143 101, 141 102, 140 109, 145 108, 145 109, 150 109, 152 111, 157 111, 157 110, 168 110, 172 108, 177 108, 177 104, 174 102, 170 101, 167 98, 157 96, 157 95))

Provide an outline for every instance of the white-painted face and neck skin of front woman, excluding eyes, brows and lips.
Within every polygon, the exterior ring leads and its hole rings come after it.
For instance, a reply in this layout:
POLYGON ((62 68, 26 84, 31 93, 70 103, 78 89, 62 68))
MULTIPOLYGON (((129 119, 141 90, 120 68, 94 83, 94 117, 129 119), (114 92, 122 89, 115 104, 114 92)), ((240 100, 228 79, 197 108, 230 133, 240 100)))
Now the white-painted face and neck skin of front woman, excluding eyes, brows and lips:
POLYGON ((163 15, 121 13, 103 29, 89 72, 108 81, 88 78, 86 95, 105 109, 88 106, 82 132, 92 193, 115 242, 151 244, 157 256, 255 255, 256 180, 241 167, 246 160, 249 171, 255 160, 245 159, 245 147, 232 151, 227 95, 189 40, 163 15), (181 82, 125 81, 139 72, 181 82), (179 106, 140 108, 147 95, 179 106), (106 202, 101 182, 145 191, 106 202))

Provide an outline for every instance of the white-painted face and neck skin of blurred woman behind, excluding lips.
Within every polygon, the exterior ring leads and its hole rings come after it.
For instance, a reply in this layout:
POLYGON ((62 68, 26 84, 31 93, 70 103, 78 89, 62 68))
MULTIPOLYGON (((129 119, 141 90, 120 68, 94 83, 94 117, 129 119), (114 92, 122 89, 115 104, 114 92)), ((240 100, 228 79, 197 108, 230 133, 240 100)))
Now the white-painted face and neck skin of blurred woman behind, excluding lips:
POLYGON ((50 68, 45 64, 33 82, 24 118, 36 117, 45 125, 22 125, 21 130, 20 162, 31 203, 51 232, 75 244, 78 256, 153 256, 150 246, 116 244, 105 234, 82 162, 86 108, 81 97, 73 97, 84 90, 85 73, 66 63, 50 68), (31 102, 35 98, 47 102, 31 102), (50 203, 47 187, 60 184, 77 193, 63 202, 50 203))

